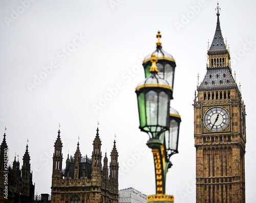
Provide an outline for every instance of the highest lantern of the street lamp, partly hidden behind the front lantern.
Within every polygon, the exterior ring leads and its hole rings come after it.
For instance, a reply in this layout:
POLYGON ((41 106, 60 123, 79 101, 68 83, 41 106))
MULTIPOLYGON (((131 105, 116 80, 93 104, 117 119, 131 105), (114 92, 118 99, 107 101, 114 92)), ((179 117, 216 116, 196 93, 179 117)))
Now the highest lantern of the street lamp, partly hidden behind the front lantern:
POLYGON ((159 70, 158 75, 166 80, 170 87, 174 87, 174 73, 175 73, 175 67, 176 63, 172 55, 168 54, 162 49, 162 43, 160 42, 160 38, 162 35, 160 34, 160 31, 158 31, 157 39, 157 49, 152 54, 145 57, 143 61, 143 67, 145 71, 145 78, 150 75, 150 67, 152 65, 151 57, 153 54, 156 55, 156 58, 158 60, 157 62, 157 68, 159 70))

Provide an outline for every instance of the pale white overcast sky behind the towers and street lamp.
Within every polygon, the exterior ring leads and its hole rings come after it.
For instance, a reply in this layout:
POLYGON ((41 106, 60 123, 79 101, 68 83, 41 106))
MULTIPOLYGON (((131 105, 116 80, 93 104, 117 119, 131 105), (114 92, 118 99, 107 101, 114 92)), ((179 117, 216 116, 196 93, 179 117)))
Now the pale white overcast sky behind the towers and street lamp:
MULTIPOLYGON (((256 3, 219 3, 222 34, 230 45, 232 71, 241 82, 246 104, 246 200, 251 202, 256 182, 252 85, 256 3)), ((58 123, 65 168, 68 150, 74 155, 78 136, 82 156, 91 156, 97 121, 102 155, 106 148, 109 161, 117 135, 119 189, 155 193, 153 155, 145 144, 147 134, 138 129, 135 87, 144 80, 142 59, 155 50, 160 30, 163 49, 176 60, 171 105, 182 118, 179 154, 171 158, 166 194, 173 194, 175 202, 196 202, 192 104, 197 74, 202 81, 206 73, 207 41, 211 43, 215 34, 216 7, 216 1, 204 0, 0 2, 0 129, 4 134, 7 127, 11 162, 15 153, 22 162, 29 139, 35 193, 51 193, 58 123), (44 73, 43 66, 51 64, 55 68, 44 73), (39 76, 45 79, 36 80, 39 76), (30 91, 28 83, 34 82, 30 91), (119 88, 117 92, 114 87, 119 88), (96 105, 100 109, 94 110, 96 105)))

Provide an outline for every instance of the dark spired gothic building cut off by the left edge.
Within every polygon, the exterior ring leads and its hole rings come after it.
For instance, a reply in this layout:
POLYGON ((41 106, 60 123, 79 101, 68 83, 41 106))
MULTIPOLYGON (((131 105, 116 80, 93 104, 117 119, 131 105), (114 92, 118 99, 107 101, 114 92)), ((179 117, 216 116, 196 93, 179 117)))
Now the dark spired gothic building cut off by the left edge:
POLYGON ((32 172, 30 171, 30 156, 28 144, 23 156, 23 165, 20 169, 16 156, 12 166, 8 166, 8 146, 6 134, 0 147, 0 203, 30 201, 34 199, 35 185, 32 183, 32 172), (8 198, 6 194, 8 189, 8 198))

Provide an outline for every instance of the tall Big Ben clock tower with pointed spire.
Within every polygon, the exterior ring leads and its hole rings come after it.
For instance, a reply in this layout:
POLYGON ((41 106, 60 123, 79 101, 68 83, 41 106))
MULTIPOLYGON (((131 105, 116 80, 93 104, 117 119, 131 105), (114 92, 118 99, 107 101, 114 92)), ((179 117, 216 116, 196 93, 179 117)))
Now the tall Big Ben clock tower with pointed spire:
POLYGON ((194 100, 196 202, 245 202, 245 105, 232 77, 230 55, 217 27, 207 72, 194 100))

